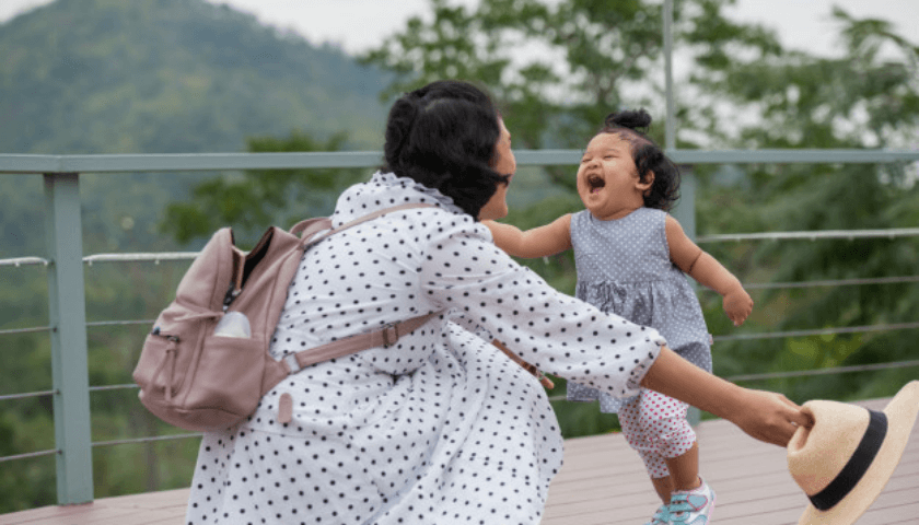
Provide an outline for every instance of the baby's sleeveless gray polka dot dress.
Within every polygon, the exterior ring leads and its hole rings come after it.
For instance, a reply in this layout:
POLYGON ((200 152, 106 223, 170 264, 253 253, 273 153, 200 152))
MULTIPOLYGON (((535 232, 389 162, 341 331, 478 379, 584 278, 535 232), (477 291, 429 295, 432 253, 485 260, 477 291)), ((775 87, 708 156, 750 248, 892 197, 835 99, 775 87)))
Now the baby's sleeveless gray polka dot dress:
MULTIPOLYGON (((601 221, 588 210, 571 215, 575 296, 655 328, 672 350, 711 372, 711 336, 696 292, 671 261, 665 219, 666 212, 653 208, 612 221, 601 221)), ((569 383, 568 399, 600 399, 601 411, 618 412, 633 397, 569 383)))

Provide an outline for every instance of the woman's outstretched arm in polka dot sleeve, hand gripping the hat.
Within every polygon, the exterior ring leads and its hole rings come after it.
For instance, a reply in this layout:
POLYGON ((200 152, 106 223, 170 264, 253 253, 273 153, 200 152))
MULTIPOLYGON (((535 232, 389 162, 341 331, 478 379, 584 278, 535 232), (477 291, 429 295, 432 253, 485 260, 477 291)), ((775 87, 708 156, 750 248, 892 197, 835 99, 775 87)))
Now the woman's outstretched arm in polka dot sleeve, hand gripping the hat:
POLYGON ((480 228, 431 231, 419 273, 426 308, 455 308, 539 370, 617 397, 653 388, 769 443, 787 443, 792 422, 806 421, 780 396, 735 386, 662 348, 656 330, 556 291, 480 228))

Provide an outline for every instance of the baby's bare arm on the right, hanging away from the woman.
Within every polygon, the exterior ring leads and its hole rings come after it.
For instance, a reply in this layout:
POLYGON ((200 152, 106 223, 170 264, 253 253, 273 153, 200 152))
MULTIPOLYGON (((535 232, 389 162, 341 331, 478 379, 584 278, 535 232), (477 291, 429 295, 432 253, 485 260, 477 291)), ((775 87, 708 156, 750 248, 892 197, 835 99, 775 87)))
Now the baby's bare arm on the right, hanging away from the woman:
POLYGON ((666 233, 671 260, 689 277, 721 294, 728 317, 734 326, 743 325, 753 311, 753 299, 741 281, 687 237, 683 226, 671 215, 667 215, 666 233))

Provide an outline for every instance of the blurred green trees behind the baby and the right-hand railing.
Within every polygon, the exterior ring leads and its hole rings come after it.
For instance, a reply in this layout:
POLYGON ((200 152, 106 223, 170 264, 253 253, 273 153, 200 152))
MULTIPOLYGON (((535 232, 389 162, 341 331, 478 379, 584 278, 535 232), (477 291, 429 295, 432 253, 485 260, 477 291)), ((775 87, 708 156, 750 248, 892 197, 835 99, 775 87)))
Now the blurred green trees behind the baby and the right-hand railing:
MULTIPOLYGON (((724 15, 732 3, 675 2, 678 57, 691 57, 690 73, 678 83, 680 148, 895 148, 915 140, 916 47, 889 23, 835 10, 845 56, 821 58, 784 50, 770 30, 732 22, 724 15)), ((384 97, 441 78, 478 81, 501 105, 517 148, 581 148, 603 116, 624 105, 662 113, 660 2, 430 5, 430 21, 410 20, 361 57, 397 73, 384 97), (521 51, 526 49, 534 52, 521 51)), ((661 129, 652 129, 659 140, 661 129)), ((919 208, 916 172, 906 166, 752 166, 734 183, 725 183, 718 167, 696 168, 700 234, 907 226, 919 208)), ((531 228, 580 209, 572 174, 573 166, 545 170, 546 180, 562 190, 512 209, 509 222, 531 228)), ((909 275, 917 257, 909 240, 709 249, 745 280, 778 282, 909 275)), ((573 290, 570 256, 523 262, 560 290, 573 290)), ((702 299, 711 331, 734 332, 720 301, 702 299)), ((745 331, 905 322, 919 310, 917 293, 907 287, 795 289, 756 299, 745 331)), ((892 361, 908 351, 892 341, 897 338, 868 332, 720 343, 716 366, 733 374, 892 361)), ((769 386, 800 398, 850 398, 891 394, 891 385, 910 375, 915 369, 769 386)))

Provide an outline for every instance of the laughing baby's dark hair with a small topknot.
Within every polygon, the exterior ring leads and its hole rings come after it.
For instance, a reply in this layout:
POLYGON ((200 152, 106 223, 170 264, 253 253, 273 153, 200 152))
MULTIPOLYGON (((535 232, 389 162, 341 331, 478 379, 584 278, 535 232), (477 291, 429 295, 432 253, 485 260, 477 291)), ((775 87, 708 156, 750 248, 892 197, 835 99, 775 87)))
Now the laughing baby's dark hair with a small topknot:
POLYGON ((651 115, 644 109, 610 113, 604 120, 601 133, 614 133, 631 144, 632 160, 638 176, 645 182, 654 174, 654 184, 644 196, 644 207, 670 211, 679 199, 679 168, 650 137, 648 126, 651 115))

